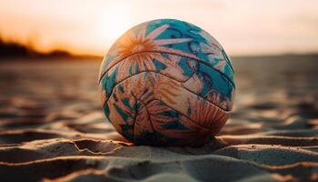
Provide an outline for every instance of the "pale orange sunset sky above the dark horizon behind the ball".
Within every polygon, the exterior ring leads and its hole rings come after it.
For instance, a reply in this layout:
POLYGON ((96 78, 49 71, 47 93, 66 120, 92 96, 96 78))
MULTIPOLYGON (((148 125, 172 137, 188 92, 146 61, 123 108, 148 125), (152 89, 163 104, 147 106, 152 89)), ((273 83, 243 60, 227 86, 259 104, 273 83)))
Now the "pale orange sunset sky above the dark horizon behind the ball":
POLYGON ((1 0, 0 36, 104 56, 133 25, 159 18, 199 25, 233 56, 318 52, 318 0, 1 0))

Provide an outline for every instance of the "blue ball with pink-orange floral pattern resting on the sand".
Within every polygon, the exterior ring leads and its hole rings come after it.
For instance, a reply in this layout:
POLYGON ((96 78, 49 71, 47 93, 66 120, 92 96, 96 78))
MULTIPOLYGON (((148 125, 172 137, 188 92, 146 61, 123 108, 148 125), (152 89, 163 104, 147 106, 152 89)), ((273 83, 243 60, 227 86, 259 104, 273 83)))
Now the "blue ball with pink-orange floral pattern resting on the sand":
POLYGON ((134 26, 104 57, 104 114, 135 145, 201 146, 220 131, 234 103, 234 68, 223 47, 190 23, 134 26))

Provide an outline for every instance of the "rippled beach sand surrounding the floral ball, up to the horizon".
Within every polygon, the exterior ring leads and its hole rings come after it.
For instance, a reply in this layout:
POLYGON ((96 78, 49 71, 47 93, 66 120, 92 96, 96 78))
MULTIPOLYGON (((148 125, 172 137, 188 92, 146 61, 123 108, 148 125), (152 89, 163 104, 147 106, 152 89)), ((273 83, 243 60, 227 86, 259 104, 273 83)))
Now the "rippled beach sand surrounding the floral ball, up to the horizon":
POLYGON ((137 147, 117 134, 98 62, 1 63, 0 181, 318 181, 316 58, 234 66, 233 115, 193 148, 137 147))

